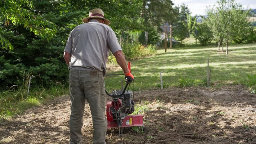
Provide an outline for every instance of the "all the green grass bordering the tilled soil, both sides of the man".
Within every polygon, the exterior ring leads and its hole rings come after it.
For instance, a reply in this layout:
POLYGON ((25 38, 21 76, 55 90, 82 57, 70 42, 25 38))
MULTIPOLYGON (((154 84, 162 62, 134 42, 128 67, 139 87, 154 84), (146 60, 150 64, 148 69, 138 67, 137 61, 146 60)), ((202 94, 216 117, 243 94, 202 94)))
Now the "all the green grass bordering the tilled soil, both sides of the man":
MULTIPOLYGON (((160 72, 164 88, 206 86, 207 58, 210 60, 212 87, 243 84, 252 91, 256 89, 256 44, 240 44, 230 45, 229 55, 209 46, 167 49, 166 53, 163 49, 157 50, 157 54, 151 57, 131 62, 131 71, 135 79, 129 90, 160 89, 160 72)), ((108 67, 107 74, 122 73, 119 66, 108 67)), ((110 92, 120 90, 121 82, 125 85, 123 76, 105 76, 105 87, 110 92)), ((40 105, 44 100, 68 93, 68 87, 64 86, 31 89, 29 95, 26 86, 15 91, 2 91, 0 121, 2 118, 22 113, 24 109, 40 105)))

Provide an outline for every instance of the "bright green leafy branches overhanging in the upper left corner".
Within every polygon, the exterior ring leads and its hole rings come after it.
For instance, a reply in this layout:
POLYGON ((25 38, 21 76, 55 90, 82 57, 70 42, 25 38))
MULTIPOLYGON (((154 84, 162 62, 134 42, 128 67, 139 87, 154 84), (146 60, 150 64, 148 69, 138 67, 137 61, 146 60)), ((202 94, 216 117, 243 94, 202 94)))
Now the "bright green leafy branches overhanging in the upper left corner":
MULTIPOLYGON (((44 19, 41 15, 36 15, 31 11, 33 3, 28 0, 4 0, 0 2, 0 20, 4 21, 5 26, 23 25, 24 28, 35 35, 47 39, 48 41, 56 32, 55 24, 44 19), (22 7, 23 6, 23 7, 22 7)), ((8 39, 9 32, 5 31, 3 24, 0 26, 0 43, 2 49, 13 50, 13 45, 8 39)))

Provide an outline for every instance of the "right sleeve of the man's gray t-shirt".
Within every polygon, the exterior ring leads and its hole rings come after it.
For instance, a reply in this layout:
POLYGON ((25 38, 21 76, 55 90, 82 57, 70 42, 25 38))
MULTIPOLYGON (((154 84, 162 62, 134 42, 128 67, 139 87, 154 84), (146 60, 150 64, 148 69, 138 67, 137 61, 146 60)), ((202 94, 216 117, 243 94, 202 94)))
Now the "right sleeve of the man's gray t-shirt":
POLYGON ((112 52, 112 54, 114 54, 116 51, 122 50, 122 48, 116 38, 116 34, 114 33, 114 31, 112 29, 110 29, 110 31, 108 33, 107 41, 108 41, 108 48, 112 52))

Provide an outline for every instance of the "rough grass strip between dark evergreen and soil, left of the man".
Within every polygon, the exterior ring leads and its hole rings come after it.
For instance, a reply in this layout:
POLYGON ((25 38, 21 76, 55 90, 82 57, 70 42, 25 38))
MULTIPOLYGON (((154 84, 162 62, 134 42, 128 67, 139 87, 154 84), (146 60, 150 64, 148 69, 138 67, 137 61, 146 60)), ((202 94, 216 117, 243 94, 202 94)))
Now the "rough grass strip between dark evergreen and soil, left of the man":
POLYGON ((27 89, 12 87, 8 91, 0 92, 0 121, 22 113, 24 110, 39 106, 46 100, 68 94, 68 87, 53 86, 50 89, 33 88, 27 95, 27 89))

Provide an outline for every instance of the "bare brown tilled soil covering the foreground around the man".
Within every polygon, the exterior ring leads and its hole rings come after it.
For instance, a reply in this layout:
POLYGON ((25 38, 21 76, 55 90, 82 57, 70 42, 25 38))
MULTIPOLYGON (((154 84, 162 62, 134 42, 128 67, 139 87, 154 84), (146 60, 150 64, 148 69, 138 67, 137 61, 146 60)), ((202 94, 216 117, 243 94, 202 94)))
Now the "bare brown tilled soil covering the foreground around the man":
MULTIPOLYGON (((108 129, 107 144, 256 144, 256 94, 241 85, 138 91, 134 100, 147 107, 146 133, 108 129)), ((0 143, 67 144, 69 114, 68 95, 28 109, 0 123, 0 143)), ((92 143, 88 104, 82 132, 83 144, 92 143)))

